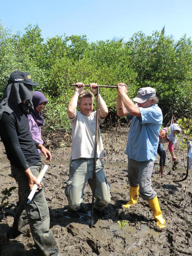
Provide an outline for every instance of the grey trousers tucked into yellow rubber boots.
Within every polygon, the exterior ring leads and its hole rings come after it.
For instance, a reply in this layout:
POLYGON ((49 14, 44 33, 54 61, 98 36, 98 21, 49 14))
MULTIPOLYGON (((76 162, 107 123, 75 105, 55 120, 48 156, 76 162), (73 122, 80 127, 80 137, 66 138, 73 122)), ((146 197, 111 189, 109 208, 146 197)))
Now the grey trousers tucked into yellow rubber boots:
POLYGON ((139 186, 139 193, 143 200, 153 199, 157 193, 151 187, 151 176, 153 172, 154 161, 138 162, 128 158, 128 180, 130 186, 139 186))

